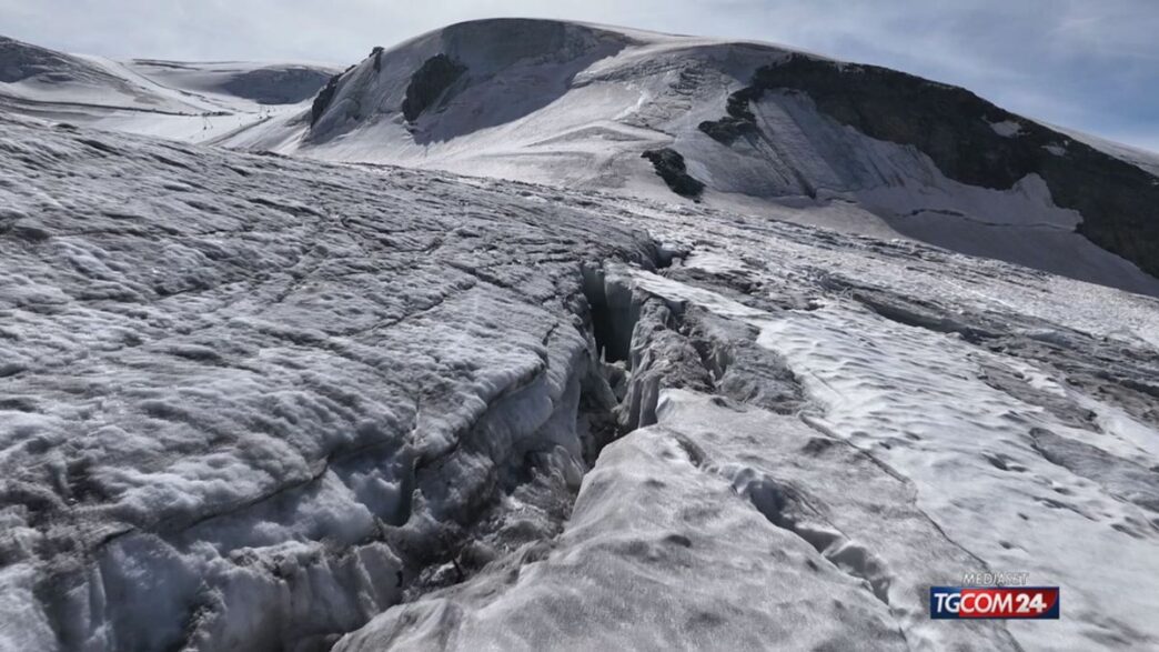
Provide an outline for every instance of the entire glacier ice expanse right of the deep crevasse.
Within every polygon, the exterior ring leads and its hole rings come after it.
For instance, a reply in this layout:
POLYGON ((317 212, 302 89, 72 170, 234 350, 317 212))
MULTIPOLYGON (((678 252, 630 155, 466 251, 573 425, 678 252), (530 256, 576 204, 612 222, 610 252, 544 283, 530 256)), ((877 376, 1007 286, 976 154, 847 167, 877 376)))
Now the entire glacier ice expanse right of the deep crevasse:
MULTIPOLYGON (((1117 421, 1114 382, 1093 393, 1069 387, 1083 384, 1083 361, 1098 355, 1100 339, 1048 331, 1051 321, 1005 300, 1055 280, 869 241, 829 248, 822 233, 800 232, 810 244, 786 246, 793 230, 748 245, 768 254, 758 256, 746 251, 745 227, 714 225, 726 232, 688 232, 692 255, 659 275, 605 273, 640 305, 629 383, 650 384, 661 369, 668 389, 653 397, 655 425, 604 450, 563 533, 388 610, 337 650, 1088 650, 1159 640, 1147 615, 1157 607, 1154 398, 1144 390, 1150 412, 1117 421), (861 282, 818 277, 815 263, 828 256, 865 263, 861 282), (895 266, 914 285, 890 278, 895 266), (926 274, 974 288, 916 290, 926 274), (814 283, 829 291, 810 291, 814 283), (905 295, 881 294, 877 283, 905 295), (1028 339, 1052 346, 1034 350, 1028 339), (649 356, 663 367, 649 367, 649 356), (744 381, 780 390, 753 396, 744 381), (1018 568, 1060 585, 1064 621, 931 621, 928 587, 958 584, 967 568, 1018 568), (777 591, 755 593, 753 581, 777 591), (766 607, 753 613, 755 602, 766 607), (807 608, 794 613, 799 606, 807 608), (833 622, 841 628, 830 630, 833 622)), ((1107 306, 1134 304, 1089 289, 1107 306)), ((1144 302, 1139 333, 1150 336, 1159 314, 1144 302)), ((1150 383, 1154 348, 1135 348, 1135 333, 1118 336, 1134 352, 1125 355, 1151 360, 1134 376, 1150 383)))

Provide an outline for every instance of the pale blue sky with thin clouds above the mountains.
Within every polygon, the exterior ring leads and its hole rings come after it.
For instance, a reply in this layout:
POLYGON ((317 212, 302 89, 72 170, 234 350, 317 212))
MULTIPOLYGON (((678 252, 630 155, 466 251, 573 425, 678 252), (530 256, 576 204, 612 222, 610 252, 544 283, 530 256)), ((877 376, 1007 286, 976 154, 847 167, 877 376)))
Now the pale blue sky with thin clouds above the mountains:
POLYGON ((0 32, 111 57, 353 63, 447 23, 539 16, 771 41, 965 86, 1159 152, 1157 0, 0 0, 0 32))

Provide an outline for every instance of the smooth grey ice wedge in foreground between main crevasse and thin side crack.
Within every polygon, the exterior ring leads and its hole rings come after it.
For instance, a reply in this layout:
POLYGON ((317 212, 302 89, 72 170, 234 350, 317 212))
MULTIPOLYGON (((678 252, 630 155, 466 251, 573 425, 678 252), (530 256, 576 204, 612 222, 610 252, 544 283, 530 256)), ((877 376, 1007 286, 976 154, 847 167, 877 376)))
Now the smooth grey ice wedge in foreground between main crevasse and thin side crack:
POLYGON ((336 650, 905 650, 887 606, 697 445, 663 427, 612 444, 549 546, 392 609, 336 650))

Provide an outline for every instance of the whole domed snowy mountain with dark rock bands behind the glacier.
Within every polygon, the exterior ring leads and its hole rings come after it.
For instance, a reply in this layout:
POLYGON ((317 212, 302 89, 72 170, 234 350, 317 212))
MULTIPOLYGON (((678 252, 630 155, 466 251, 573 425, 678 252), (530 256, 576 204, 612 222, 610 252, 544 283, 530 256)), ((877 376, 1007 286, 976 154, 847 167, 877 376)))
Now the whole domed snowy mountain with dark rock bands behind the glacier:
POLYGON ((461 23, 220 142, 650 198, 671 187, 750 215, 809 207, 815 224, 1159 295, 1159 178, 1137 157, 962 89, 768 44, 461 23), (649 151, 672 154, 654 166, 649 151))

